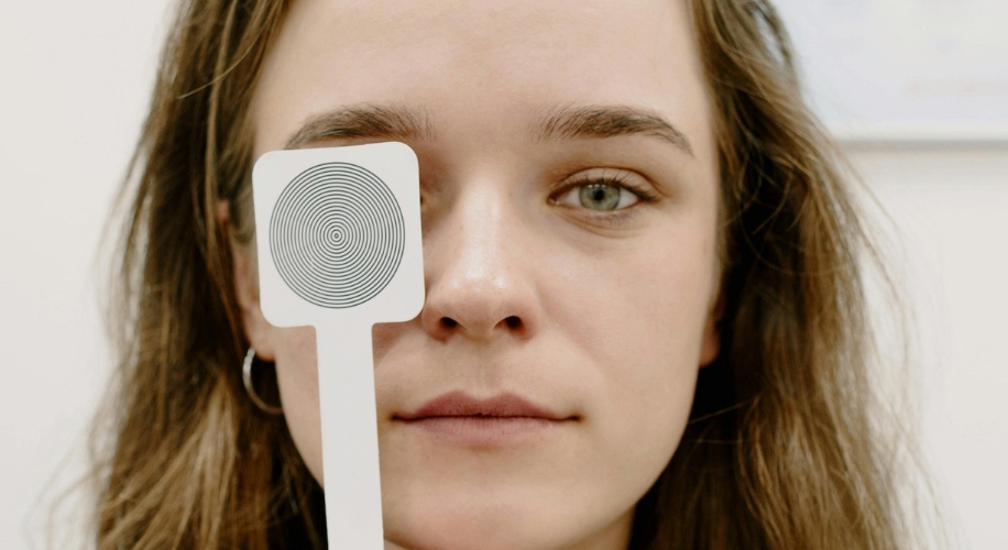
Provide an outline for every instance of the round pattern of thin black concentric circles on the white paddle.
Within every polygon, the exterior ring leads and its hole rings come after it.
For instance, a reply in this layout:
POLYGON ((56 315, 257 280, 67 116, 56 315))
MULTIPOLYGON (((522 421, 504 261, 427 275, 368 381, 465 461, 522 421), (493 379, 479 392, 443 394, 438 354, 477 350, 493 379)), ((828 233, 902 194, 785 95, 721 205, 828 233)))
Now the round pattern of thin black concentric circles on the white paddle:
POLYGON ((330 309, 381 293, 399 267, 405 237, 388 186, 349 163, 298 174, 270 220, 270 252, 281 278, 306 301, 330 309))

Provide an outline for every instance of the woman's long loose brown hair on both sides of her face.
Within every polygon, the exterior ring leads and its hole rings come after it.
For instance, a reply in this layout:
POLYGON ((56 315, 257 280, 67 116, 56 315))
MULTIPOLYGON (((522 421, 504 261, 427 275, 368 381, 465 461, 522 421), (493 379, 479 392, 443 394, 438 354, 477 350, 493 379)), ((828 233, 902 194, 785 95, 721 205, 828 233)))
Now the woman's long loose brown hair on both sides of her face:
MULTIPOLYGON (((868 378, 870 246, 841 161, 769 2, 689 3, 723 178, 724 344, 631 548, 905 548, 868 378)), ((249 105, 286 8, 184 0, 163 53, 127 187, 99 550, 325 543, 284 420, 244 394, 232 287, 230 241, 253 232, 249 105)))

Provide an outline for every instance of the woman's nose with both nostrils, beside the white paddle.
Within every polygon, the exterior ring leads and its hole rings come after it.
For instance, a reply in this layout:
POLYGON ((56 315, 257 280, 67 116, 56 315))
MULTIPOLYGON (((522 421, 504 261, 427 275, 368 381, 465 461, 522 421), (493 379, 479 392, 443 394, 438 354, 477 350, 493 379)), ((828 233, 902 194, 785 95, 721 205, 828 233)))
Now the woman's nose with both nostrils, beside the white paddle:
MULTIPOLYGON (((473 189, 457 197, 424 240, 424 329, 435 339, 532 338, 541 306, 535 254, 505 193, 473 189)), ((426 223, 426 221, 425 221, 426 223)))

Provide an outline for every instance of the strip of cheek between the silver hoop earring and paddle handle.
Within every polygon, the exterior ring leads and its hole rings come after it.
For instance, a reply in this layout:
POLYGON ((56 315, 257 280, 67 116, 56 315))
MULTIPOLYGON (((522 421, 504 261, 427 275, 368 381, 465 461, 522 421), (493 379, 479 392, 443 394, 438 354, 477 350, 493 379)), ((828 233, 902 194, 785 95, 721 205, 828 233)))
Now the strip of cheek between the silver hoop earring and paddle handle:
POLYGON ((287 428, 308 471, 321 482, 322 443, 315 329, 273 330, 276 331, 276 381, 287 428))

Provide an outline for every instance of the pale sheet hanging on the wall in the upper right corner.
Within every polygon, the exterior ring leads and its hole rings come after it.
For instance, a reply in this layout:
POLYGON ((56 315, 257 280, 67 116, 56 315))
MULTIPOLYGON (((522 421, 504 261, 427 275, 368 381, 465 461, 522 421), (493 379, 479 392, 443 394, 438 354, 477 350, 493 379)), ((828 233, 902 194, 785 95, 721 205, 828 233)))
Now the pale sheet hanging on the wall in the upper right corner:
POLYGON ((775 3, 837 138, 1008 142, 1008 1, 775 3))

